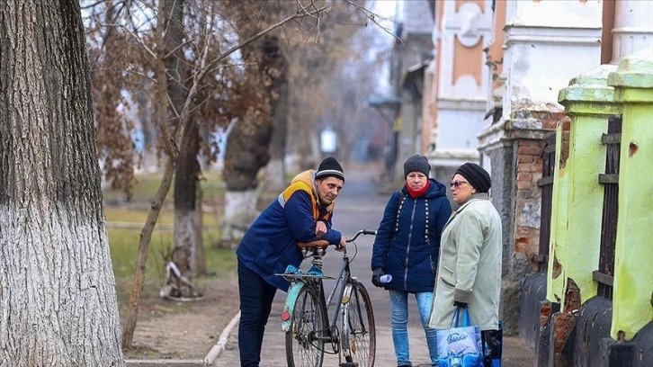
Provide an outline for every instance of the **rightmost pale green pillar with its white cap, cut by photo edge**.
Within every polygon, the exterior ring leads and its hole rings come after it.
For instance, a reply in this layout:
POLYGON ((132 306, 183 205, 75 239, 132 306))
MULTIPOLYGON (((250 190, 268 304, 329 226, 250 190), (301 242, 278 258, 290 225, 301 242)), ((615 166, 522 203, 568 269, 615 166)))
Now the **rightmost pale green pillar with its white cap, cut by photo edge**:
POLYGON ((608 85, 623 103, 611 336, 631 340, 653 319, 653 48, 623 58, 608 85))

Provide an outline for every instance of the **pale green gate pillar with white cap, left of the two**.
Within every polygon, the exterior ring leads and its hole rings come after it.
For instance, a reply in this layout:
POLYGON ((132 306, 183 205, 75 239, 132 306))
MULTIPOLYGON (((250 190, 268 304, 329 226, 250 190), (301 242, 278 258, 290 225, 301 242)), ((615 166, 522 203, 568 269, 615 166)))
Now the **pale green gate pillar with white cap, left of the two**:
MULTIPOLYGON (((558 197, 557 210, 565 213, 566 222, 556 228, 561 243, 551 243, 548 286, 550 300, 565 303, 568 279, 580 290, 581 303, 596 295, 592 272, 598 268, 601 243, 601 213, 604 185, 598 176, 605 172, 605 145, 601 136, 607 132, 608 119, 621 113, 621 105, 613 100, 614 89, 607 85, 613 65, 602 65, 577 76, 559 93, 559 102, 570 117, 569 152, 565 167, 554 177, 568 180, 567 195, 558 197), (566 207, 566 210, 565 210, 566 207), (555 264, 558 261, 559 264, 555 264), (554 273, 554 269, 559 272, 554 273), (562 282, 556 282, 558 276, 562 282)), ((559 157, 557 157, 559 158, 559 157)), ((555 218, 551 223, 560 224, 555 218)))

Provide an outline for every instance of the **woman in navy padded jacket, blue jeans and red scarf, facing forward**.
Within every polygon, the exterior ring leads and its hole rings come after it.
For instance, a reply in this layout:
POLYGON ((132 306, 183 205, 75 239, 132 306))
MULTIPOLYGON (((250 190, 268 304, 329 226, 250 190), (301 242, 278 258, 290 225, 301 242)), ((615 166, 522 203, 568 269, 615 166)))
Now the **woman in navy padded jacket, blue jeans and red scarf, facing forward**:
POLYGON ((394 192, 383 212, 371 255, 372 283, 389 290, 390 326, 398 366, 412 366, 408 345, 408 293, 415 294, 431 365, 437 365, 435 329, 427 327, 435 284, 440 235, 452 214, 446 187, 428 177, 424 156, 404 163, 406 184, 394 192), (380 282, 389 274, 390 282, 380 282))

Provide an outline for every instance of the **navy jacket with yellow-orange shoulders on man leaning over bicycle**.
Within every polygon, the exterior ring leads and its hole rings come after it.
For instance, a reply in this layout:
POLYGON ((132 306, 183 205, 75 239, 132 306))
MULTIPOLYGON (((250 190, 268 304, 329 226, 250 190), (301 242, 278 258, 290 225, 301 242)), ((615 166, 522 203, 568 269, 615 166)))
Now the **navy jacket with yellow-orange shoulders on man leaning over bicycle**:
POLYGON ((247 229, 236 250, 240 261, 282 291, 288 291, 290 283, 275 274, 283 273, 289 264, 300 266, 298 242, 324 239, 340 243, 341 233, 331 229, 334 205, 319 204, 317 192, 313 170, 295 176, 247 229), (318 220, 324 221, 327 229, 319 238, 315 235, 318 220))

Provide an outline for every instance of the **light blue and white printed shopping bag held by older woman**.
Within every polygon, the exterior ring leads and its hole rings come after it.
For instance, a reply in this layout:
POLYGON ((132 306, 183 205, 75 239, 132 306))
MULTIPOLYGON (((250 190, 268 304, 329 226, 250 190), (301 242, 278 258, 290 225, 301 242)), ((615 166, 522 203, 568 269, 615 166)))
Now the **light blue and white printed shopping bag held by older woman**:
POLYGON ((439 367, 483 367, 480 327, 471 326, 467 308, 456 308, 452 327, 436 335, 439 367))

